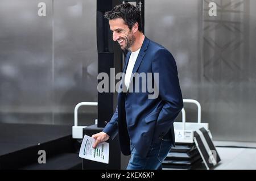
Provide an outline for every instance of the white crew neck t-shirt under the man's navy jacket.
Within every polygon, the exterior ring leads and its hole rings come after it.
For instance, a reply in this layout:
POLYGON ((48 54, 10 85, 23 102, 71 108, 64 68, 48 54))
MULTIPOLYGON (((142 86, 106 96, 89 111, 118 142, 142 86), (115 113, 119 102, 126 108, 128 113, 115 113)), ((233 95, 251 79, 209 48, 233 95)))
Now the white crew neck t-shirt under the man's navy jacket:
POLYGON ((137 60, 139 50, 141 50, 141 48, 139 48, 135 52, 131 52, 131 55, 129 58, 129 62, 128 62, 126 73, 125 73, 125 86, 126 86, 127 90, 130 85, 131 74, 133 73, 133 68, 134 68, 135 62, 137 60))

